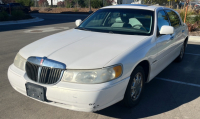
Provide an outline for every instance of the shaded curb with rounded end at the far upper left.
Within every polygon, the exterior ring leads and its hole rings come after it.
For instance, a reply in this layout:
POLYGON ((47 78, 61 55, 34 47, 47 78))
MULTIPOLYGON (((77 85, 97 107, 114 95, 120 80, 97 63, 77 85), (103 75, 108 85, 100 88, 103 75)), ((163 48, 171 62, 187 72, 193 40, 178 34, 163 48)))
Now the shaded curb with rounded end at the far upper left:
POLYGON ((44 19, 41 18, 34 18, 34 19, 28 19, 28 20, 18 20, 18 21, 3 21, 0 22, 1 25, 11 25, 11 24, 26 24, 26 23, 33 23, 33 22, 40 22, 43 21, 44 19))

